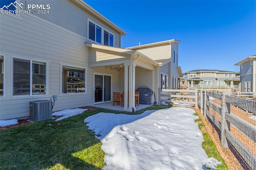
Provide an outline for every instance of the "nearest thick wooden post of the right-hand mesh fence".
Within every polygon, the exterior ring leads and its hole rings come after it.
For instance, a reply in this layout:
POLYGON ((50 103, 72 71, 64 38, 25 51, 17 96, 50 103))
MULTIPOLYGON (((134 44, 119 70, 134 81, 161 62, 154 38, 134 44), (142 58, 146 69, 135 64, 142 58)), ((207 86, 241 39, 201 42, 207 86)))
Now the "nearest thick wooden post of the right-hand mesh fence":
POLYGON ((228 148, 228 141, 225 136, 225 130, 229 130, 226 121, 226 113, 230 113, 230 103, 226 103, 226 95, 221 94, 221 126, 220 126, 220 143, 222 148, 228 148))

